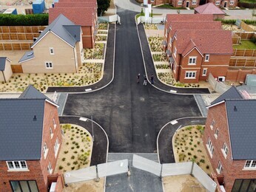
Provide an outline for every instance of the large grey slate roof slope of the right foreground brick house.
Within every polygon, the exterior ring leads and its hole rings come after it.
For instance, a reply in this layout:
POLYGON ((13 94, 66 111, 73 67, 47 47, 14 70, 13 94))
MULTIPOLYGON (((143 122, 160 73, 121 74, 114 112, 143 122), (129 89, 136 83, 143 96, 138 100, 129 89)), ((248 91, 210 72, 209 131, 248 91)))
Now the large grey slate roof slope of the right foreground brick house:
POLYGON ((256 160, 256 100, 226 99, 233 160, 256 160))

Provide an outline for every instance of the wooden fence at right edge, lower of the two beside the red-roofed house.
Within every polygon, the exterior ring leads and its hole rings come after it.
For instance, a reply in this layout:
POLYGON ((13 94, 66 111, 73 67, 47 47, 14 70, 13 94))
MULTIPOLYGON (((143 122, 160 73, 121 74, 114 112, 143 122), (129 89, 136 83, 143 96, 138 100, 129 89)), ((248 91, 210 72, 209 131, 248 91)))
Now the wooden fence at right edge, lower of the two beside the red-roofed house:
POLYGON ((255 67, 256 58, 230 58, 229 67, 255 67))

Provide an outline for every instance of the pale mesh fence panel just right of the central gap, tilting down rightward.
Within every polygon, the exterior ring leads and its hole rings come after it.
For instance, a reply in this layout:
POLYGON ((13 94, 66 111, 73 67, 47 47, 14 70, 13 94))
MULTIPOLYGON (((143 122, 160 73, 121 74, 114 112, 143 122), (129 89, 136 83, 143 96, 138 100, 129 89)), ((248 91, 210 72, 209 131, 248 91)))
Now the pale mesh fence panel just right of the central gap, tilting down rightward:
POLYGON ((152 160, 147 160, 146 158, 140 157, 136 154, 133 154, 132 166, 144 171, 148 171, 151 174, 161 176, 161 164, 152 160))

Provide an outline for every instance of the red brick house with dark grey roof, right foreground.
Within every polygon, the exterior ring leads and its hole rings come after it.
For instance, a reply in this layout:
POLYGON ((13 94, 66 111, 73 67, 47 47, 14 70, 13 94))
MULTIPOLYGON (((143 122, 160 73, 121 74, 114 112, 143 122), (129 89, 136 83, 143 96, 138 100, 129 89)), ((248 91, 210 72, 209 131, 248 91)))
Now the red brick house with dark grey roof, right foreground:
POLYGON ((232 86, 208 106, 203 143, 226 191, 256 189, 256 100, 232 86))

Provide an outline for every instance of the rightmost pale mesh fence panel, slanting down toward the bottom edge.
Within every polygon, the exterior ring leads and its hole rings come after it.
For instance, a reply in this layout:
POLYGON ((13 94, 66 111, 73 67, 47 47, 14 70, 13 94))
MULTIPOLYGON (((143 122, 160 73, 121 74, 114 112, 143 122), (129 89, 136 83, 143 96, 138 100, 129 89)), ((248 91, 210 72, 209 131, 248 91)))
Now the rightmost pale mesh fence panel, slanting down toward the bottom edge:
POLYGON ((196 163, 194 163, 192 174, 208 191, 215 192, 217 184, 196 163))

